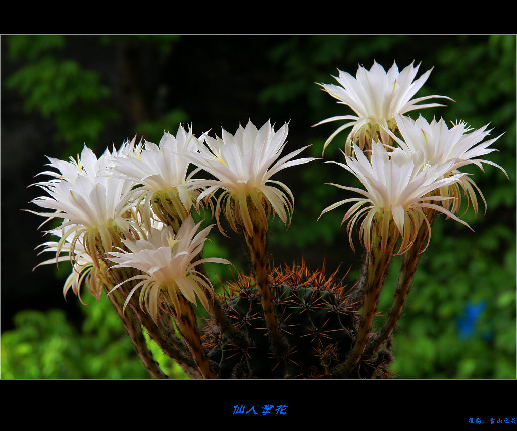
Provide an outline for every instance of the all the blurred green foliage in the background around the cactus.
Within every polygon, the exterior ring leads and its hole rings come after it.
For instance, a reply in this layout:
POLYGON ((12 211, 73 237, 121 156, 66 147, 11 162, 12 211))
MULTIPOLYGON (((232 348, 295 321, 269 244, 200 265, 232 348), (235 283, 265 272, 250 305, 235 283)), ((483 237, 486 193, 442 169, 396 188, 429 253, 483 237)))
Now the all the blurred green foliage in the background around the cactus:
MULTIPOLYGON (((168 56, 192 39, 188 36, 101 38, 106 45, 121 40, 130 40, 134 46, 152 43, 162 56, 168 56)), ((231 43, 227 38, 224 41, 231 43)), ((493 145, 500 152, 486 158, 503 166, 510 179, 490 165, 485 165, 484 173, 475 166, 467 171, 488 203, 486 214, 483 215, 484 207, 479 199, 477 217, 472 208, 463 217, 475 233, 444 217, 433 224, 429 249, 420 259, 403 317, 394 333, 396 362, 392 371, 403 378, 517 377, 515 41, 512 35, 285 36, 272 38, 268 50, 257 52, 257 63, 272 78, 269 85, 250 91, 256 91, 257 106, 267 107, 272 120, 275 120, 273 114, 284 112, 292 118, 288 140, 295 142, 296 148, 312 144, 304 157, 309 157, 309 153, 322 157, 326 137, 338 127, 337 122, 313 129, 309 129, 310 125, 333 115, 352 113, 314 82, 333 83, 330 75, 337 74, 336 68, 355 74, 358 63, 369 68, 374 59, 385 68, 396 59, 400 69, 413 60, 416 64, 422 61, 419 74, 434 66, 418 96, 445 95, 455 102, 447 102, 447 107, 423 110, 422 115, 428 120, 433 115, 444 116, 447 121, 462 118, 474 128, 491 121, 492 137, 506 132, 493 145), (301 126, 297 129, 296 124, 301 126), (468 304, 479 303, 486 306, 473 322, 469 337, 460 336, 459 319, 468 304)), ((71 146, 78 142, 92 143, 108 122, 121 114, 104 104, 111 91, 102 84, 99 72, 85 70, 73 58, 58 55, 65 45, 66 37, 62 36, 11 37, 9 53, 12 58, 23 60, 23 64, 6 85, 19 91, 27 110, 36 110, 54 121, 56 139, 71 146)), ((227 61, 231 65, 233 59, 227 61)), ((244 71, 238 68, 234 73, 244 71)), ((227 77, 221 76, 223 80, 227 77)), ((163 130, 175 133, 178 122, 199 121, 190 118, 185 107, 168 109, 157 118, 133 125, 134 131, 158 143, 163 130)), ((215 109, 224 109, 224 103, 215 109)), ((415 118, 415 113, 412 114, 415 118)), ((242 118, 248 115, 242 113, 242 118)), ((343 147, 345 138, 346 132, 334 139, 325 151, 325 161, 343 161, 339 148, 343 147)), ((357 262, 361 252, 356 236, 356 254, 352 254, 344 226, 340 226, 345 210, 337 209, 324 214, 317 223, 315 220, 323 208, 351 197, 324 182, 350 187, 358 187, 359 183, 331 163, 312 162, 293 172, 297 174, 283 173, 287 179, 279 178, 294 186, 293 222, 287 232, 282 223, 270 223, 271 245, 280 251, 339 255, 343 267, 346 266, 344 271, 356 263, 347 277, 349 284, 353 284, 359 273, 357 262), (293 175, 299 175, 296 184, 290 177, 293 175)), ((221 245, 217 232, 211 238, 205 250, 207 255, 241 261, 237 250, 227 250, 221 245)), ((282 254, 276 256, 280 261, 281 257, 282 254)), ((379 313, 389 310, 400 261, 400 257, 392 261, 379 299, 379 313)), ((215 270, 221 279, 231 276, 229 271, 222 272, 220 266, 209 269, 209 273, 215 270)), ((82 307, 85 321, 81 331, 73 328, 61 312, 20 313, 17 329, 2 334, 2 377, 148 377, 108 307, 104 300, 82 307)), ((374 324, 378 326, 382 320, 377 319, 374 324)), ((181 375, 161 352, 157 352, 157 359, 163 362, 166 373, 181 375)))

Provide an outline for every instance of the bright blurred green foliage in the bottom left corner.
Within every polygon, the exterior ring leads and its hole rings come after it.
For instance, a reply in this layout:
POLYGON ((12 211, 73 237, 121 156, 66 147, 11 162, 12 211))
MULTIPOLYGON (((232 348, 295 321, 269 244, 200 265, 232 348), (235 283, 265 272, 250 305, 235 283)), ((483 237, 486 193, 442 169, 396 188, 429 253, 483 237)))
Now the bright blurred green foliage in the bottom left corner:
MULTIPOLYGON (((151 378, 111 302, 103 297, 82 308, 85 320, 80 330, 59 310, 18 313, 17 329, 2 333, 0 339, 0 378, 151 378)), ((179 365, 154 342, 148 344, 166 374, 184 378, 179 365)))

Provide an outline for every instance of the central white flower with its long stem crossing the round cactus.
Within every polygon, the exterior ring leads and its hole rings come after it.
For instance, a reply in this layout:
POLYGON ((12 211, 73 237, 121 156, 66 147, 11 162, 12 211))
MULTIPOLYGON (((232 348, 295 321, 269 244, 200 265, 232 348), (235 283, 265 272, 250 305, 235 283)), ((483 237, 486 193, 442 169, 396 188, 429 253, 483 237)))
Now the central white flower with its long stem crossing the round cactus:
POLYGON ((200 187, 206 187, 197 201, 222 189, 216 202, 219 229, 223 232, 219 223, 221 208, 235 232, 238 232, 237 224, 242 228, 254 267, 268 332, 281 357, 286 354, 287 349, 278 327, 268 286, 267 219, 272 211, 273 217, 278 214, 287 228, 291 222, 294 197, 285 184, 272 180, 271 177, 286 167, 315 160, 292 160, 308 147, 295 150, 277 160, 286 145, 287 132, 287 124, 275 132, 269 121, 259 130, 250 120, 245 128, 239 126, 235 135, 223 129, 222 138, 205 136, 207 147, 201 146, 199 153, 191 153, 189 156, 192 163, 216 177, 215 180, 193 181, 200 187), (280 186, 280 189, 270 184, 280 186))

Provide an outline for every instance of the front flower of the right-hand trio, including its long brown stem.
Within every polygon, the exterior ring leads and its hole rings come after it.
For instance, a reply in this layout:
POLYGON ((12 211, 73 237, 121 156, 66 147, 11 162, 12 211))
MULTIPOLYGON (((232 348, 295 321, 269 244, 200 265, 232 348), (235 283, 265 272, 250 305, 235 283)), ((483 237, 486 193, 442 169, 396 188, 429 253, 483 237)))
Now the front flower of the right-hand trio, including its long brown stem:
POLYGON ((363 311, 353 350, 346 362, 335 371, 338 376, 348 376, 366 348, 378 296, 397 239, 402 238, 399 248, 399 254, 402 254, 412 245, 424 222, 430 237, 431 229, 424 212, 425 208, 446 213, 449 217, 467 225, 445 208, 427 202, 435 199, 438 201, 451 199, 451 197, 427 196, 436 188, 458 181, 463 175, 444 178, 443 175, 449 170, 450 164, 423 165, 418 162, 419 158, 414 158, 412 154, 400 148, 390 153, 383 145, 376 142, 372 142, 372 155, 368 160, 357 145, 354 144, 353 147, 357 159, 345 156, 347 164, 338 164, 353 173, 366 190, 339 184, 332 185, 357 192, 363 197, 344 199, 322 211, 324 214, 345 203, 355 202, 346 212, 342 222, 351 218, 347 225, 347 232, 352 248, 354 248, 352 227, 360 218, 364 218, 359 230, 361 243, 367 250, 366 280, 360 286, 364 293, 363 311))

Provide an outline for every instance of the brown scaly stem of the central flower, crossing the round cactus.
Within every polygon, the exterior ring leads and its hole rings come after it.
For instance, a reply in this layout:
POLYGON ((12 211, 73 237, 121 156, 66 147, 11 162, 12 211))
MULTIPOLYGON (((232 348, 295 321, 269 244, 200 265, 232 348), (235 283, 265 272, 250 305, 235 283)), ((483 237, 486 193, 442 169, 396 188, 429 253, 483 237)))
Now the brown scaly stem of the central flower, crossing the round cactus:
POLYGON ((260 294, 260 302, 264 312, 267 330, 270 336, 271 345, 279 358, 285 358, 289 351, 287 342, 280 333, 275 309, 269 286, 269 258, 267 256, 267 237, 266 227, 262 221, 260 210, 248 201, 248 211, 253 223, 253 236, 250 237, 247 230, 244 230, 244 238, 248 245, 251 264, 254 268, 256 284, 260 294))

